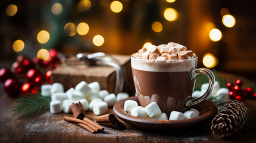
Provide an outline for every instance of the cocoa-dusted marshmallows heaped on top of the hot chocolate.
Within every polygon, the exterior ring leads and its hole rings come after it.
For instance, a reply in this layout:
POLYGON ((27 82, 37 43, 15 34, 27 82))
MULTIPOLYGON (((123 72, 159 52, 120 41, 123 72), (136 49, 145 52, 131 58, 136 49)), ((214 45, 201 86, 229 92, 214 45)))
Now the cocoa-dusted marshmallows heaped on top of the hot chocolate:
POLYGON ((150 45, 147 48, 142 48, 132 56, 144 60, 183 60, 193 58, 196 55, 193 54, 193 51, 187 50, 186 46, 169 42, 168 44, 150 45))

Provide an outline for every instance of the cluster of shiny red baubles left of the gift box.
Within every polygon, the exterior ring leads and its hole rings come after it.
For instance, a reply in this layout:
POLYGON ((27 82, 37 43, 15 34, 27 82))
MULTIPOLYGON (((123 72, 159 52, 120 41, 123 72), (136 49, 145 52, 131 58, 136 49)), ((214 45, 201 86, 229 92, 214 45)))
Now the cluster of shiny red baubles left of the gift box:
POLYGON ((19 55, 17 61, 11 66, 11 70, 0 69, 0 82, 4 83, 4 91, 10 96, 21 93, 25 97, 27 93, 35 94, 39 86, 44 85, 45 82, 51 84, 51 70, 46 74, 44 71, 49 68, 55 69, 60 60, 55 49, 51 49, 49 53, 51 58, 49 61, 38 58, 32 61, 24 55, 19 55))

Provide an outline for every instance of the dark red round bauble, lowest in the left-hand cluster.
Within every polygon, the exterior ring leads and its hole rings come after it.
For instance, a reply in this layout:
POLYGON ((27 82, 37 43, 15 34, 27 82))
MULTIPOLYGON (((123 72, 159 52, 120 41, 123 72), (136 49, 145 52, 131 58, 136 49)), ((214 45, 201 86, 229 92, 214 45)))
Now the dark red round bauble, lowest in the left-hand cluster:
POLYGON ((14 96, 20 92, 20 83, 16 79, 7 79, 4 82, 4 91, 8 95, 14 96))

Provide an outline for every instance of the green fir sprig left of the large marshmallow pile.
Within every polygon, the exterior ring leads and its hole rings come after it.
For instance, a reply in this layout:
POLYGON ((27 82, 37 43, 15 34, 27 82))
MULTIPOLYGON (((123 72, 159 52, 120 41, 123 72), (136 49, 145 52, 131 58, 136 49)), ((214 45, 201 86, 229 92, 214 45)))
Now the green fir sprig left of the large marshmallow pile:
POLYGON ((26 98, 19 98, 17 105, 11 111, 14 114, 20 114, 19 119, 27 119, 43 113, 50 108, 50 97, 43 97, 40 94, 29 95, 26 98))

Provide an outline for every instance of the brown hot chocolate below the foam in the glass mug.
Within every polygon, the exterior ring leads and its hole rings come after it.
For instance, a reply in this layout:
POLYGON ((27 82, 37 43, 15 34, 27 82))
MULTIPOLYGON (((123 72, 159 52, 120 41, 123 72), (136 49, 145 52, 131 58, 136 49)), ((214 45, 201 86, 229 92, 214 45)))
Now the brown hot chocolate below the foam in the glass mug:
POLYGON ((159 72, 132 69, 134 85, 141 106, 157 102, 167 115, 172 110, 186 110, 186 99, 192 95, 195 79, 189 71, 159 72))

